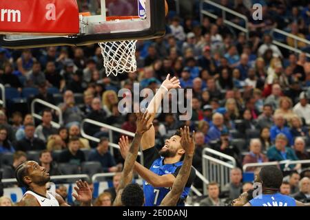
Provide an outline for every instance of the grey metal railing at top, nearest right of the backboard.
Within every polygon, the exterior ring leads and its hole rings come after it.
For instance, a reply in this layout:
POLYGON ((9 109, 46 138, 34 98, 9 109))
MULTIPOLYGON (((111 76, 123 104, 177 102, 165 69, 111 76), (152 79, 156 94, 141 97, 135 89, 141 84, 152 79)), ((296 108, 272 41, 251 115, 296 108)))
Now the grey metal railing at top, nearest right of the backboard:
POLYGON ((243 14, 235 12, 234 10, 231 10, 231 9, 229 9, 227 7, 224 7, 223 5, 220 5, 220 4, 215 3, 213 1, 209 1, 209 0, 201 0, 200 1, 200 22, 203 21, 203 16, 204 15, 206 15, 208 17, 211 17, 212 19, 217 19, 218 18, 218 15, 213 14, 213 13, 203 9, 203 5, 205 5, 205 4, 212 5, 215 8, 218 8, 218 9, 222 10, 223 22, 226 25, 231 26, 232 28, 236 28, 236 29, 240 30, 241 32, 245 32, 245 35, 247 36, 247 39, 249 39, 249 20, 247 19, 247 17, 245 15, 243 15, 243 14), (227 20, 226 19, 226 13, 234 14, 234 16, 239 17, 240 19, 243 19, 245 21, 245 28, 243 28, 241 25, 237 25, 236 23, 227 20))

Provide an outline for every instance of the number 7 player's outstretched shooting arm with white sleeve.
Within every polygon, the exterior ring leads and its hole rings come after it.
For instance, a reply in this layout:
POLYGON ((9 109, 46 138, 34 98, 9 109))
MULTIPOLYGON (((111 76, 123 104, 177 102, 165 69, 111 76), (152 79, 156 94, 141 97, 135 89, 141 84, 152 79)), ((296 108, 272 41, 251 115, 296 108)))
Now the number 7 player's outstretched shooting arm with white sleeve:
MULTIPOLYGON (((180 88, 180 80, 178 80, 176 77, 173 77, 171 79, 169 78, 170 74, 167 75, 165 81, 163 81, 163 83, 161 84, 161 87, 159 87, 158 91, 156 91, 154 98, 152 98, 151 102, 149 102, 147 111, 150 113, 151 117, 149 118, 148 125, 152 124, 156 112, 158 111, 159 107, 161 107, 161 101, 166 96, 167 92, 170 89, 180 88)), ((149 131, 143 134, 141 140, 141 147, 142 150, 146 150, 147 148, 151 148, 154 145, 155 145, 155 130, 154 126, 151 126, 149 131)))

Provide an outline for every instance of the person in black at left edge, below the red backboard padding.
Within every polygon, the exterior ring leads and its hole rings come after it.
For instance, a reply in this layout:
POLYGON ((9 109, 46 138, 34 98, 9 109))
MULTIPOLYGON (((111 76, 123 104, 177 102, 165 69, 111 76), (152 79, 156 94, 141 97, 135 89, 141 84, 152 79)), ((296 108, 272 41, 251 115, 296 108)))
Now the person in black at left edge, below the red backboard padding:
MULTIPOLYGON (((0 69, 2 69, 2 66, 0 66, 0 69)), ((2 81, 4 86, 14 87, 21 91, 23 85, 21 85, 18 76, 14 75, 13 72, 14 67, 12 63, 5 63, 3 65, 3 74, 0 74, 0 81, 2 81)))

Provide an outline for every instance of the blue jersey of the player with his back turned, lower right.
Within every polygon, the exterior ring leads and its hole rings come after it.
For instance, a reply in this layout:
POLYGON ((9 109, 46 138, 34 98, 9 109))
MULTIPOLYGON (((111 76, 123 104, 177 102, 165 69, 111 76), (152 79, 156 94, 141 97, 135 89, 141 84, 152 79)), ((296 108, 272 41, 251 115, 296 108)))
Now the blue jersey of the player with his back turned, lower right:
POLYGON ((251 206, 296 206, 292 197, 276 193, 273 195, 260 195, 249 201, 251 206))

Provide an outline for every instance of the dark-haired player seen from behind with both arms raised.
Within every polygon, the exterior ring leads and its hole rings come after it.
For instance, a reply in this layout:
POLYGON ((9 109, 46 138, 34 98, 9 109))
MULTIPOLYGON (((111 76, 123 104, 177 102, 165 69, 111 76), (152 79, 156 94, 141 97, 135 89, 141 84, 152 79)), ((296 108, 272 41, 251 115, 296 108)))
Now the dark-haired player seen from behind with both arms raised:
MULTIPOLYGON (((181 195, 183 194, 187 179, 189 178, 189 175, 191 173, 190 171, 192 169, 192 160, 195 151, 194 133, 192 137, 190 137, 189 127, 185 126, 184 129, 180 129, 180 135, 180 142, 185 151, 183 164, 180 168, 180 171, 178 172, 178 175, 176 176, 176 180, 174 181, 172 189, 168 192, 167 195, 165 195, 163 201, 161 201, 160 203, 160 206, 177 205, 181 195)), ((120 142, 118 142, 121 148, 121 153, 123 157, 125 157, 125 166, 120 186, 118 186, 118 194, 116 196, 116 203, 118 203, 118 206, 143 206, 143 203, 145 201, 143 196, 143 190, 140 186, 138 186, 138 184, 127 184, 130 183, 130 181, 132 180, 133 165, 138 155, 137 140, 138 138, 140 138, 139 136, 140 135, 138 135, 137 133, 135 134, 134 142, 130 147, 128 139, 125 137, 122 137, 120 142), (127 186, 125 186, 125 184, 127 184, 127 186)))

